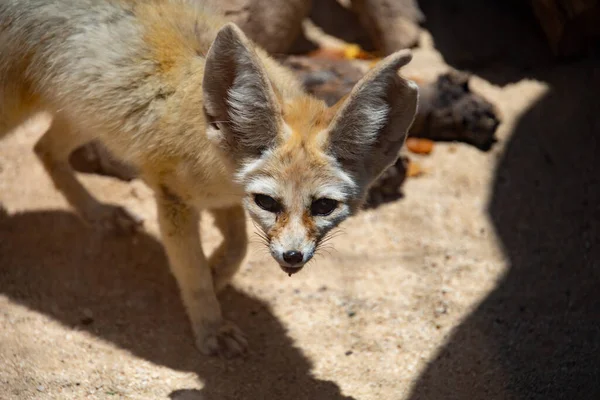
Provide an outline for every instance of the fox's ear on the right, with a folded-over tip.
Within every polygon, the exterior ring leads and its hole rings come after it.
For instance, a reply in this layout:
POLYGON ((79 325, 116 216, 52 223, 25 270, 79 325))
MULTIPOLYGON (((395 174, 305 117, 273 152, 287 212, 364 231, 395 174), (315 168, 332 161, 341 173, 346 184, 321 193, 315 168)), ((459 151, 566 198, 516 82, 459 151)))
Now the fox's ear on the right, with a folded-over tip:
POLYGON ((354 86, 328 128, 329 152, 363 186, 397 160, 415 118, 418 87, 398 75, 411 59, 407 50, 384 58, 354 86))

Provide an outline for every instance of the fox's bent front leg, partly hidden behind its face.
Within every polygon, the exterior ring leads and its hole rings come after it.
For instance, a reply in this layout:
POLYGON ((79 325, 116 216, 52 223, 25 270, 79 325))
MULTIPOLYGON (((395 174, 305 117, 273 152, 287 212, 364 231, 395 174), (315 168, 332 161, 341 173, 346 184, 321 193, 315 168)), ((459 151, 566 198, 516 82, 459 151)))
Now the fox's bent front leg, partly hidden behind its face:
POLYGON ((215 291, 222 290, 240 269, 248 248, 246 214, 242 206, 211 210, 215 225, 223 234, 223 242, 210 256, 215 291))

